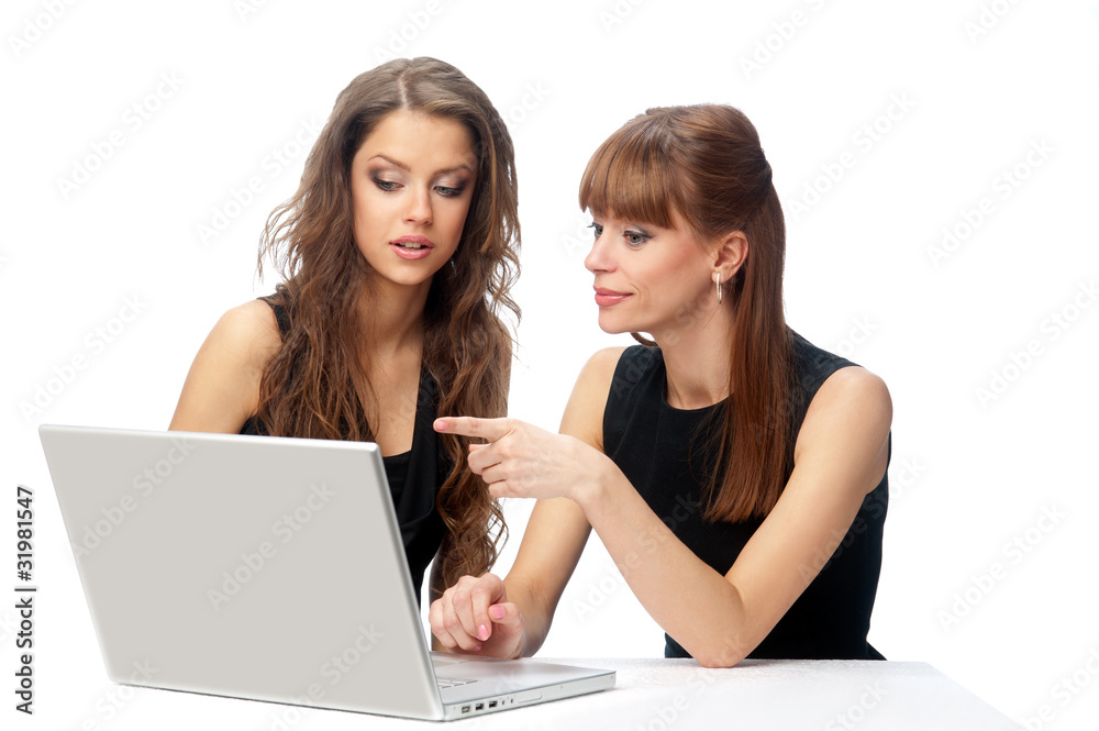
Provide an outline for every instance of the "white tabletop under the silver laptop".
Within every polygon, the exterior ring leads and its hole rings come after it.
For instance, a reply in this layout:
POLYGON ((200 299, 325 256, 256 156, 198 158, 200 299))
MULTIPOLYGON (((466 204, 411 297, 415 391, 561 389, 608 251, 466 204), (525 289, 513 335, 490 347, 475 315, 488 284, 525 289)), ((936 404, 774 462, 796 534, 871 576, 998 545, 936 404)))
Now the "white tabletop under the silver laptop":
POLYGON ((133 702, 112 720, 110 730, 1019 729, 1011 719, 926 663, 750 660, 731 669, 706 669, 691 660, 571 658, 559 662, 613 668, 618 671, 615 687, 443 724, 133 688, 133 702))

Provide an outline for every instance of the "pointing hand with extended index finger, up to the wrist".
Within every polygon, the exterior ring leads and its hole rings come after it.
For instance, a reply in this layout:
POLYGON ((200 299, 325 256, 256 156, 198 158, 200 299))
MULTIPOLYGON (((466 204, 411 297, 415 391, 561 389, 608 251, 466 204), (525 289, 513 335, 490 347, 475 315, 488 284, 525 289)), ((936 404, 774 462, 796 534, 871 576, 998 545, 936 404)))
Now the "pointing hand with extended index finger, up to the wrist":
POLYGON ((553 434, 517 419, 446 417, 435 431, 481 438, 469 445, 469 468, 497 498, 569 498, 580 502, 614 464, 578 439, 553 434))

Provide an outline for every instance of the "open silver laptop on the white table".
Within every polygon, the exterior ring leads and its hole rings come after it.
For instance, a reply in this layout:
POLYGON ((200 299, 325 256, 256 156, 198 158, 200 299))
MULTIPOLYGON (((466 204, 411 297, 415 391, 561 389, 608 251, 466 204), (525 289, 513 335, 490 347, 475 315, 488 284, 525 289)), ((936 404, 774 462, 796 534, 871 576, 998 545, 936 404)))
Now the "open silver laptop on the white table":
POLYGON ((38 433, 115 683, 429 720, 614 685, 429 652, 375 444, 38 433))

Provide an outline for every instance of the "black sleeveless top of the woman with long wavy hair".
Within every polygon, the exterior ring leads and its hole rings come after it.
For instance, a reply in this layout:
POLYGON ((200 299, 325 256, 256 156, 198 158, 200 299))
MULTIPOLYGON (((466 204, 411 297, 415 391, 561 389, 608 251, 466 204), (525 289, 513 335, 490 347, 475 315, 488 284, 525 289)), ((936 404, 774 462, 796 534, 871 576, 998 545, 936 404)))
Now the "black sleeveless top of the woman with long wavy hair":
MULTIPOLYGON (((270 304, 275 311, 279 332, 285 337, 290 328, 286 308, 266 297, 259 299, 270 304)), ((440 446, 439 435, 432 429, 437 403, 439 389, 435 379, 421 366, 412 448, 402 454, 381 458, 386 466, 397 522, 401 527, 404 555, 409 562, 409 574, 412 576, 417 603, 420 602, 423 573, 439 551, 446 533, 443 519, 435 509, 439 487, 451 474, 449 456, 440 446)), ((244 422, 241 433, 265 434, 266 430, 253 416, 244 422)))

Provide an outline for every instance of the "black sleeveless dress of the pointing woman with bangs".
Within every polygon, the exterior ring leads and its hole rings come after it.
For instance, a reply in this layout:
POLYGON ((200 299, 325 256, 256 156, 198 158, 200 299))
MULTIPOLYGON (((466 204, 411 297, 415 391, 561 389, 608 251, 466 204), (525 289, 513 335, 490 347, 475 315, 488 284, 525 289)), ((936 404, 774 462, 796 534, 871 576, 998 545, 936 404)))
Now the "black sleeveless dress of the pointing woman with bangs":
MULTIPOLYGON (((824 380, 855 365, 793 333, 791 434, 797 438, 809 403, 824 380)), ((682 410, 665 399, 667 375, 658 347, 636 345, 622 353, 603 413, 603 447, 648 507, 673 533, 719 574, 729 573, 763 522, 708 522, 702 495, 713 474, 722 407, 682 410)), ((866 642, 881 568, 881 530, 889 498, 888 478, 863 500, 851 529, 817 578, 748 657, 884 660, 866 642)), ((826 562, 826 563, 825 563, 826 562)), ((814 566, 815 567, 815 566, 814 566)), ((689 657, 665 634, 666 657, 689 657)))

